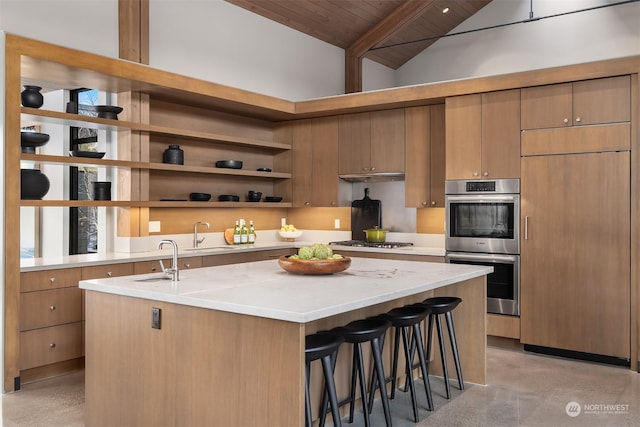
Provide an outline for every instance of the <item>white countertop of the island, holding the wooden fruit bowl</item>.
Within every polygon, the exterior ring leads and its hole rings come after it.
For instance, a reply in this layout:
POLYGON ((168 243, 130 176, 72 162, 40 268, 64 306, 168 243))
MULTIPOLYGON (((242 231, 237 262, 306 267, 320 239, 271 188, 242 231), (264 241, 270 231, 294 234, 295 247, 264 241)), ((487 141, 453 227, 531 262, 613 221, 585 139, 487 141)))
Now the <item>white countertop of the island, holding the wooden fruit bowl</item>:
POLYGON ((287 273, 277 260, 163 274, 83 280, 80 288, 232 313, 306 323, 489 274, 491 267, 352 258, 326 276, 287 273), (155 280, 158 279, 158 280, 155 280))

